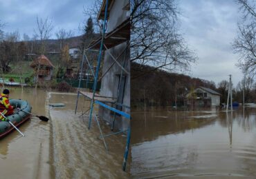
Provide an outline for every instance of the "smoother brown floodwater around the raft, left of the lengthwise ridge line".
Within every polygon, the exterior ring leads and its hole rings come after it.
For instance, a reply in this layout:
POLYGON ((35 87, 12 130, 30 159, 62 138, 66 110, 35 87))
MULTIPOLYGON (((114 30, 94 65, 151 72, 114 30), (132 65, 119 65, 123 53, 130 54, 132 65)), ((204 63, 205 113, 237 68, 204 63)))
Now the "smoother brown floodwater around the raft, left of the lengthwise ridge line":
MULTIPOLYGON (((24 99, 33 107, 33 113, 47 116, 46 93, 43 90, 12 88, 10 98, 24 99)), ((51 178, 54 176, 49 155, 50 123, 45 123, 33 116, 19 129, 25 137, 13 131, 0 140, 1 178, 51 178)))

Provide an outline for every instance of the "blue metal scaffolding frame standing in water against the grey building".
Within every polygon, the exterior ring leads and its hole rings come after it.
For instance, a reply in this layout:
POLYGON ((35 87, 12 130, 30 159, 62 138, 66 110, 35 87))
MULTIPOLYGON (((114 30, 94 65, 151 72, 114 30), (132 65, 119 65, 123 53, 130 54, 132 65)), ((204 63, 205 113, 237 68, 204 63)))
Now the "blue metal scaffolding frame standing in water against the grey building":
MULTIPOLYGON (((127 27, 129 27, 129 19, 127 19, 126 21, 124 21, 122 24, 118 25, 118 27, 113 30, 112 32, 109 32, 108 34, 106 34, 106 25, 107 25, 107 17, 108 17, 108 3, 113 3, 113 1, 111 0, 106 0, 104 1, 104 21, 103 21, 103 29, 102 29, 102 36, 100 39, 98 39, 97 41, 93 41, 93 43, 90 45, 90 47, 88 49, 84 49, 83 52, 83 56, 82 56, 82 63, 81 63, 81 67, 80 67, 80 82, 79 82, 79 87, 78 87, 78 92, 77 92, 77 101, 76 101, 76 106, 75 106, 75 114, 77 112, 77 104, 78 104, 78 98, 80 95, 84 96, 84 98, 89 98, 89 100, 91 100, 91 104, 90 104, 90 108, 86 111, 89 111, 89 129, 91 127, 91 120, 94 116, 95 121, 98 125, 98 128, 100 129, 100 138, 102 138, 103 142, 104 142, 104 146, 107 149, 107 143, 104 140, 104 137, 108 137, 108 136, 112 136, 112 135, 116 135, 116 134, 122 134, 124 132, 127 132, 127 143, 126 143, 126 147, 125 147, 125 154, 124 154, 124 160, 122 163, 122 170, 125 171, 126 168, 126 164, 127 164, 127 157, 129 154, 129 144, 130 144, 130 138, 131 138, 131 123, 129 125, 129 127, 123 131, 118 131, 115 133, 111 133, 111 134, 106 134, 103 135, 102 134, 102 129, 100 127, 100 123, 98 121, 98 115, 95 114, 95 110, 93 110, 94 105, 99 105, 101 107, 104 107, 105 109, 109 109, 114 113, 114 117, 113 117, 113 122, 111 124, 111 130, 113 130, 113 125, 114 122, 116 120, 116 114, 119 114, 120 116, 123 116, 124 118, 127 118, 127 120, 131 119, 130 114, 127 114, 125 112, 122 112, 116 108, 118 108, 118 106, 121 107, 125 107, 129 109, 129 106, 127 105, 123 105, 118 103, 118 98, 111 98, 111 97, 107 97, 107 96, 100 96, 99 94, 96 94, 96 87, 98 84, 98 81, 100 81, 105 74, 107 74, 107 72, 109 72, 109 70, 111 69, 111 67, 113 67, 113 65, 116 63, 120 68, 121 68, 121 74, 120 74, 120 81, 122 80, 122 76, 123 76, 123 72, 125 72, 126 74, 129 74, 129 72, 127 72, 127 70, 125 70, 125 62, 126 59, 124 58, 122 64, 120 64, 118 62, 118 59, 120 58, 120 56, 122 56, 122 54, 125 52, 125 57, 126 57, 126 51, 127 48, 129 48, 129 29, 127 30, 127 27), (120 33, 117 34, 118 30, 126 30, 125 33, 120 33), (113 36, 113 34, 116 34, 116 36, 113 36), (102 74, 101 78, 98 80, 99 77, 99 71, 100 71, 100 65, 101 65, 101 60, 102 60, 102 51, 103 50, 108 50, 108 48, 112 48, 120 43, 124 43, 127 42, 127 47, 125 48, 125 50, 123 50, 121 52, 121 54, 118 57, 114 57, 110 52, 108 52, 109 56, 111 56, 111 59, 113 59, 113 63, 111 64, 111 66, 109 67, 109 69, 102 74), (99 48, 99 54, 98 54, 98 61, 97 61, 97 68, 95 70, 95 72, 93 71, 93 67, 91 67, 91 64, 89 62, 89 59, 86 56, 86 50, 93 50, 93 48, 99 48), (90 92, 82 92, 80 91, 80 84, 82 81, 82 72, 83 70, 83 66, 84 66, 84 61, 86 61, 88 63, 88 66, 86 71, 88 72, 89 70, 91 71, 90 73, 93 75, 94 81, 93 81, 93 91, 92 93, 90 92), (107 105, 106 103, 111 103, 112 105, 114 105, 115 107, 111 107, 110 105, 107 105)), ((102 4, 103 6, 103 4, 102 4)), ((94 50, 93 50, 94 51, 94 50)), ((87 76, 88 77, 88 76, 87 76)), ((119 81, 119 84, 120 84, 119 81)), ((118 92, 117 92, 117 96, 119 96, 120 94, 120 85, 118 85, 118 92)), ((82 115, 84 115, 85 113, 82 112, 82 115)), ((81 116, 82 116, 81 115, 81 116)))

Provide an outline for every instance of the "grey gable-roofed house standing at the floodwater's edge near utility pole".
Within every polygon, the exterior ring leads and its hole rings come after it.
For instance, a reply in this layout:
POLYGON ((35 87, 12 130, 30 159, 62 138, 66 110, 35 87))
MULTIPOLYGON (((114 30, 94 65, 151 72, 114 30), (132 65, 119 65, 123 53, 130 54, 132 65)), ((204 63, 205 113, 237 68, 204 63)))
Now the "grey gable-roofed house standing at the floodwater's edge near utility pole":
POLYGON ((220 96, 221 94, 208 87, 196 87, 186 95, 187 104, 197 107, 219 106, 220 96))

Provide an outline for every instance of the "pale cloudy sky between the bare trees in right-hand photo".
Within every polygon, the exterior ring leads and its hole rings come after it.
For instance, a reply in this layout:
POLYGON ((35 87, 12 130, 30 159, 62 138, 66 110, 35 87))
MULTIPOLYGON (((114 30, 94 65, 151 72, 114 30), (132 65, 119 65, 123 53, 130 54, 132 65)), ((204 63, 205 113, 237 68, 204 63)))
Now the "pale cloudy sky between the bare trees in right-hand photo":
POLYGON ((243 74, 233 54, 232 41, 237 36, 239 7, 232 0, 180 0, 181 32, 191 50, 199 57, 191 75, 218 84, 232 74, 235 87, 243 74))

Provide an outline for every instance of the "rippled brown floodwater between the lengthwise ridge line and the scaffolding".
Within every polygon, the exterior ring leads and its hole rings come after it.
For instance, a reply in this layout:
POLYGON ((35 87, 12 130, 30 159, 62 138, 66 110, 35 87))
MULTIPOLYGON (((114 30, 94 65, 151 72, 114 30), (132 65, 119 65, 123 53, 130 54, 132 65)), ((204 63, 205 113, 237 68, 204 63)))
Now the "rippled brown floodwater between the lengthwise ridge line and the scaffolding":
MULTIPOLYGON (((108 151, 100 138, 95 120, 88 129, 88 116, 74 114, 77 95, 51 94, 51 103, 65 103, 65 107, 53 107, 50 115, 53 125, 53 154, 56 178, 128 178, 122 171, 122 159, 125 151, 125 136, 106 138, 108 151)), ((89 106, 89 101, 80 98, 77 109, 89 106)), ((85 107, 85 111, 88 107, 85 107)), ((104 134, 110 133, 110 127, 100 124, 104 134)))

